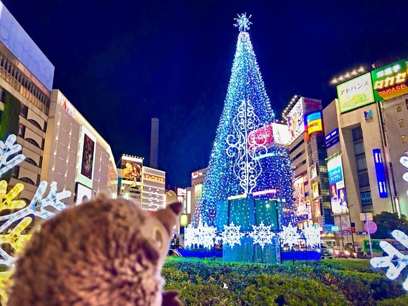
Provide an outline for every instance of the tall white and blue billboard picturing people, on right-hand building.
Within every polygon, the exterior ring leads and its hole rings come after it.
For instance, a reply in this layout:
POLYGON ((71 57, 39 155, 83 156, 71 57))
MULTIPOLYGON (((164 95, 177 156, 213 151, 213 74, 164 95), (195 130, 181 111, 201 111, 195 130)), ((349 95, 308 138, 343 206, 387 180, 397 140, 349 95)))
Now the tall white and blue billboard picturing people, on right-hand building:
POLYGON ((347 212, 346 188, 343 177, 341 154, 327 160, 328 184, 330 190, 331 211, 333 214, 347 212))

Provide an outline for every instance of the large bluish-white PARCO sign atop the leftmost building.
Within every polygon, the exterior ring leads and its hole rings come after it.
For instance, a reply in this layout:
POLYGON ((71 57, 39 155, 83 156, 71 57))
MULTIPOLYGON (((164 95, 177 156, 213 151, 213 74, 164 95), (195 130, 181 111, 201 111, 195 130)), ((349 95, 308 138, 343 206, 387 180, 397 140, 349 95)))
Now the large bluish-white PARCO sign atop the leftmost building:
POLYGON ((49 91, 52 91, 54 65, 45 57, 1 1, 0 32, 0 41, 49 91))

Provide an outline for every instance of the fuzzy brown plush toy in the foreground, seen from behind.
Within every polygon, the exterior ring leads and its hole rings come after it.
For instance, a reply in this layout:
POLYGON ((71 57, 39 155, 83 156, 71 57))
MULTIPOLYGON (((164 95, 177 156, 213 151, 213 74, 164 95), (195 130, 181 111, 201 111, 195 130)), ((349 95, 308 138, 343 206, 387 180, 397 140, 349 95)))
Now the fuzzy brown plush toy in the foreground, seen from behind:
POLYGON ((9 306, 181 305, 161 276, 181 203, 148 214, 98 196, 44 222, 15 264, 9 306))

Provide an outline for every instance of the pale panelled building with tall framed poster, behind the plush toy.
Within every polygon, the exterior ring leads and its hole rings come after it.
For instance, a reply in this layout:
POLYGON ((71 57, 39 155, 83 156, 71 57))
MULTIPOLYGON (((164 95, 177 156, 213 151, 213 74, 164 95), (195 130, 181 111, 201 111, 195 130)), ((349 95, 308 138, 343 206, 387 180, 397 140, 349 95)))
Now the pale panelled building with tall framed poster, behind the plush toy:
POLYGON ((110 145, 59 90, 53 90, 45 137, 41 181, 57 182, 78 205, 96 193, 116 196, 118 173, 110 145))

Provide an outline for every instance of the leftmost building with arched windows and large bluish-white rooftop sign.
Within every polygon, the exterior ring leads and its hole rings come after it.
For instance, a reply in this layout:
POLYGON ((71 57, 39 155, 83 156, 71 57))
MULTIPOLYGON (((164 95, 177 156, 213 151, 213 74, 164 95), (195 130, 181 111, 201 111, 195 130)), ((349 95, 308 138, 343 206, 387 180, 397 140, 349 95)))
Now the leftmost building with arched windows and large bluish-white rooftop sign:
POLYGON ((0 2, 0 139, 14 134, 25 160, 2 176, 29 203, 41 180, 54 66, 0 2))

